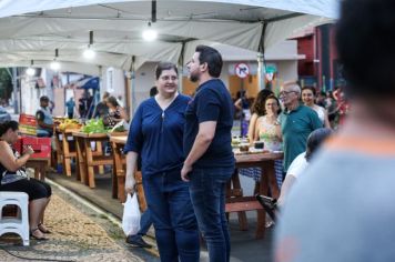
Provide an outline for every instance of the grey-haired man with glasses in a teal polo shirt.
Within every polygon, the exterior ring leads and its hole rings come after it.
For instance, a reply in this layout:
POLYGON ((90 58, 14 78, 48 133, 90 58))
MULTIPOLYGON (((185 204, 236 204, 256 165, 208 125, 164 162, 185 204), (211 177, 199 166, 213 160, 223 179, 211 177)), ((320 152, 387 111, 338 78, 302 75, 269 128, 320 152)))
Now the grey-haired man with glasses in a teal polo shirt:
POLYGON ((314 130, 322 128, 317 113, 300 103, 301 88, 296 82, 286 82, 281 89, 280 99, 285 110, 278 120, 284 144, 284 172, 292 161, 306 148, 307 137, 314 130))

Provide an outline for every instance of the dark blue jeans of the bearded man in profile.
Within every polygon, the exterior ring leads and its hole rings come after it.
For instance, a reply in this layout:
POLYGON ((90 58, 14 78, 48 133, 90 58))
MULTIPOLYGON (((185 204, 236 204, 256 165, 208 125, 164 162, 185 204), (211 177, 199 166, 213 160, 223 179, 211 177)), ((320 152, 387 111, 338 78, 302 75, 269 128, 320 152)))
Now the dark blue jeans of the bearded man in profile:
POLYGON ((194 169, 190 193, 211 262, 229 262, 231 243, 225 216, 225 187, 234 169, 194 169))

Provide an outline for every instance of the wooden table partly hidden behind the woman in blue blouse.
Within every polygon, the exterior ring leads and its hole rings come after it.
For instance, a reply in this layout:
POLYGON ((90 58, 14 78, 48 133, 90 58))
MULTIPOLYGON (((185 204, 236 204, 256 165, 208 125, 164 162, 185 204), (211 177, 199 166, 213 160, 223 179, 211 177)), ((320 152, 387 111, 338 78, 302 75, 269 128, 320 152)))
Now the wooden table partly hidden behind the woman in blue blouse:
MULTIPOLYGON (((128 140, 126 135, 113 137, 110 135, 111 147, 114 157, 114 169, 113 169, 113 187, 112 194, 113 198, 118 198, 121 202, 125 201, 124 183, 125 183, 125 165, 126 160, 123 154, 123 147, 128 140)), ((134 172, 135 188, 139 198, 140 210, 144 211, 146 209, 142 175, 140 171, 134 172)))

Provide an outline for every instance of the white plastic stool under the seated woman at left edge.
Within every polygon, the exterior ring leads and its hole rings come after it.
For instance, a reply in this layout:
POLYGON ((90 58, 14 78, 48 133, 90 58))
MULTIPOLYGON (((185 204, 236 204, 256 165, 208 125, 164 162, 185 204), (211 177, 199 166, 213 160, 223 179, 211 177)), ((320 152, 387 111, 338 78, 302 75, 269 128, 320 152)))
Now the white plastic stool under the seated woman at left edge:
POLYGON ((0 235, 4 233, 19 234, 23 245, 29 245, 29 195, 23 192, 0 192, 0 235), (20 209, 18 216, 2 218, 4 205, 17 205, 20 209))

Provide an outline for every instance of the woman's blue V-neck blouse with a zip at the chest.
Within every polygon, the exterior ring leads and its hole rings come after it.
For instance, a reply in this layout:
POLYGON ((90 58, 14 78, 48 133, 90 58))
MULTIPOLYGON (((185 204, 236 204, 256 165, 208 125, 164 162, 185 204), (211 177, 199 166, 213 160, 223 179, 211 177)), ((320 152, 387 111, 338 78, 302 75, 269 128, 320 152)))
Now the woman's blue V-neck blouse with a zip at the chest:
POLYGON ((143 175, 181 170, 185 159, 182 141, 189 101, 189 97, 179 94, 164 111, 154 98, 140 104, 124 152, 133 151, 141 155, 143 175))

